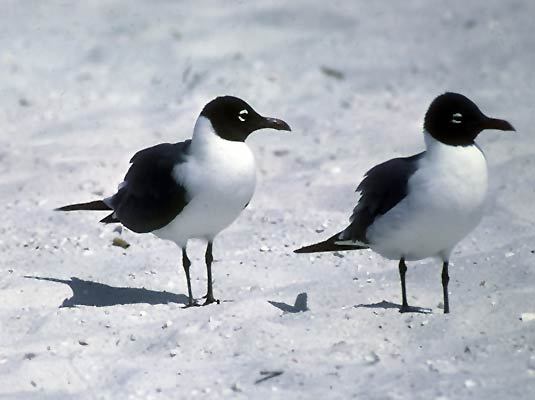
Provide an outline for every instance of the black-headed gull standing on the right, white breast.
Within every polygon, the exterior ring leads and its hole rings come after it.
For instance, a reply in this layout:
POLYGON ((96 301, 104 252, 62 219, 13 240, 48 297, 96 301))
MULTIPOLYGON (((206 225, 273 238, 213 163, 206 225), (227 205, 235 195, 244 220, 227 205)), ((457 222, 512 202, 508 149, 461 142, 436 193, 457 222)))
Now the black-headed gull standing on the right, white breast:
POLYGON ((448 313, 450 255, 481 220, 487 196, 487 162, 474 142, 484 129, 515 130, 507 121, 485 116, 461 94, 438 96, 425 115, 426 151, 369 170, 357 187, 360 199, 349 226, 295 252, 371 248, 399 260, 401 312, 416 311, 407 303, 405 261, 438 257, 448 313))

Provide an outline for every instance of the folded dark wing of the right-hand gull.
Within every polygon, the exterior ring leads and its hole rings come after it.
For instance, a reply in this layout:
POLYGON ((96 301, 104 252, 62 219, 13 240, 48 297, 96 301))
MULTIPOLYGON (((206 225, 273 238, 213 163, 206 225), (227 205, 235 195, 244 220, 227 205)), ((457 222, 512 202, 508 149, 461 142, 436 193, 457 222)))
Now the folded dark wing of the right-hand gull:
POLYGON ((340 240, 369 244, 368 227, 377 216, 386 214, 407 196, 407 182, 418 168, 424 153, 394 158, 370 169, 357 187, 360 199, 353 209, 351 224, 340 234, 340 240))

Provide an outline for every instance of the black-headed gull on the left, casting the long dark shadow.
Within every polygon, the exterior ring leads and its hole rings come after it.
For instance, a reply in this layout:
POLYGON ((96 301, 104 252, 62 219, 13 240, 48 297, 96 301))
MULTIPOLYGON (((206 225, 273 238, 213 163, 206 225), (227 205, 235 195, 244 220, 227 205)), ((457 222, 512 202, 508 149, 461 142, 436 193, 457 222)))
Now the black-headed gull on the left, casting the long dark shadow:
POLYGON ((191 140, 162 143, 136 153, 113 196, 57 210, 112 210, 100 222, 121 223, 134 232, 151 232, 175 242, 182 249, 189 306, 196 302, 186 245, 192 238, 206 240, 208 291, 204 305, 216 302, 212 243, 253 196, 256 167, 245 139, 263 128, 290 131, 286 122, 261 116, 237 97, 218 97, 202 110, 191 140))

